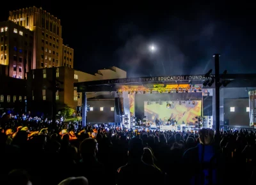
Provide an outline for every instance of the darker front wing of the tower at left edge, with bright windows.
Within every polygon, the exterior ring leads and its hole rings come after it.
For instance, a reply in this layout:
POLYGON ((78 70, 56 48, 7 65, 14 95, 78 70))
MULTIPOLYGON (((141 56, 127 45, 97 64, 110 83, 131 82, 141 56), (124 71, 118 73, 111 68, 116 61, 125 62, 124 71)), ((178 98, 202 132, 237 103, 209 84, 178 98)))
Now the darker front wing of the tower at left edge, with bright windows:
POLYGON ((1 74, 26 78, 33 68, 33 32, 8 20, 0 22, 1 74))

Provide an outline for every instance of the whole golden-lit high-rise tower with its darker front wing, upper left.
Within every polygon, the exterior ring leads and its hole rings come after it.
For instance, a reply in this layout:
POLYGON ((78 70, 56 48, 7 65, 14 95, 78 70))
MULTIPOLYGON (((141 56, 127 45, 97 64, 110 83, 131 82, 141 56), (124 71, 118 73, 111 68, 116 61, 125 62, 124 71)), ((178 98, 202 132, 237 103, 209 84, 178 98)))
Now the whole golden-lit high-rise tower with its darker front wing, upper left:
POLYGON ((26 78, 31 69, 73 68, 74 49, 63 45, 60 19, 42 8, 10 11, 8 21, 1 22, 0 28, 0 64, 6 66, 1 66, 1 74, 26 78))

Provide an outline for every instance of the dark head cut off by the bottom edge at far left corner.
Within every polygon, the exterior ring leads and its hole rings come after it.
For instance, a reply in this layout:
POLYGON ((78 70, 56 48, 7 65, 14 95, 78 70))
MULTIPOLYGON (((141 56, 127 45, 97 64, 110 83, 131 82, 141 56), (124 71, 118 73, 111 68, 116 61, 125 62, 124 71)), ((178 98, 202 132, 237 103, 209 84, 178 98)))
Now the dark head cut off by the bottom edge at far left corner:
POLYGON ((32 185, 32 182, 29 180, 29 175, 25 170, 12 170, 8 174, 8 184, 32 185))

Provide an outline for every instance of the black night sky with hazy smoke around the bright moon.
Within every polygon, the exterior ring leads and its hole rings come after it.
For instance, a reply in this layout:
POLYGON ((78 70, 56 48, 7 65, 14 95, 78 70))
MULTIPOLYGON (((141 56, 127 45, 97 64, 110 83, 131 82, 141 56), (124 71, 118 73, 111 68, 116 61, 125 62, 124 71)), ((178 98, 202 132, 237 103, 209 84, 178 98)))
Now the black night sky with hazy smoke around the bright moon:
POLYGON ((252 4, 37 2, 6 4, 1 20, 7 20, 9 10, 33 5, 60 18, 77 70, 95 73, 117 66, 129 77, 204 74, 213 68, 212 54, 220 53, 221 71, 256 73, 252 4), (157 47, 154 53, 148 51, 151 43, 157 47))

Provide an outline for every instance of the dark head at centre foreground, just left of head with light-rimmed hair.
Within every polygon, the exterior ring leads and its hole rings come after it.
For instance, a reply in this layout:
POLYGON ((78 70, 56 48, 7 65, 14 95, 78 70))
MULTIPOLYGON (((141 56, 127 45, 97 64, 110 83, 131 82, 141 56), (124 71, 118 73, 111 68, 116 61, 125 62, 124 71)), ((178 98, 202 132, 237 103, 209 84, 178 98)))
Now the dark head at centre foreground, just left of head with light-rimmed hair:
POLYGON ((140 138, 134 137, 129 140, 129 157, 131 159, 141 159, 143 155, 143 142, 140 138))

